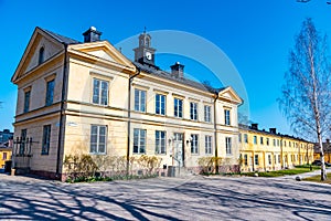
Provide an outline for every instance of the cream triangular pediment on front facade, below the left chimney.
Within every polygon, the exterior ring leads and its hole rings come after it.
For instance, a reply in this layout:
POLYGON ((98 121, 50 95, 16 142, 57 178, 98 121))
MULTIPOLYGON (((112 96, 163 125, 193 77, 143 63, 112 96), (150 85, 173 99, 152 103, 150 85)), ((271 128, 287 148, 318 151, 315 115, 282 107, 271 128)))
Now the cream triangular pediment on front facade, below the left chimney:
POLYGON ((71 45, 70 50, 82 52, 86 55, 98 57, 99 60, 109 61, 124 66, 135 69, 135 65, 125 55, 122 55, 108 41, 97 41, 90 43, 71 45))

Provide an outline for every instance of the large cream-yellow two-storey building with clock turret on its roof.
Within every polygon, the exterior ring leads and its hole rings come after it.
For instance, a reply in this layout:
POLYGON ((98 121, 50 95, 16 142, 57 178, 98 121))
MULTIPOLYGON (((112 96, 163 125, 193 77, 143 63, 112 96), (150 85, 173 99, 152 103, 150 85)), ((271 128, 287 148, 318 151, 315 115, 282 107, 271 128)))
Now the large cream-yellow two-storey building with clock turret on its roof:
POLYGON ((199 170, 204 156, 238 165, 237 106, 231 87, 213 90, 154 64, 142 33, 128 60, 90 28, 84 42, 36 28, 12 77, 18 85, 13 165, 63 177, 70 154, 150 155, 162 166, 199 170))

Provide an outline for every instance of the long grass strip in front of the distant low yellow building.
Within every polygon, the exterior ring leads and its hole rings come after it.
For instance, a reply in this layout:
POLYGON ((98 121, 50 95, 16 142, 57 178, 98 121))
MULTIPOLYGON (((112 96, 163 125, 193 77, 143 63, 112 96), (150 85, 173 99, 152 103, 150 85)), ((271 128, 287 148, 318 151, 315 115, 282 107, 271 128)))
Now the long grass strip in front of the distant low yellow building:
MULTIPOLYGON (((268 172, 257 172, 258 177, 281 177, 281 176, 287 176, 287 175, 300 175, 305 172, 310 172, 317 169, 320 169, 320 167, 312 166, 312 170, 310 170, 310 166, 298 166, 292 169, 282 169, 282 170, 277 170, 277 171, 268 171, 268 172)), ((255 172, 243 172, 243 176, 248 176, 248 177, 254 177, 255 172)))

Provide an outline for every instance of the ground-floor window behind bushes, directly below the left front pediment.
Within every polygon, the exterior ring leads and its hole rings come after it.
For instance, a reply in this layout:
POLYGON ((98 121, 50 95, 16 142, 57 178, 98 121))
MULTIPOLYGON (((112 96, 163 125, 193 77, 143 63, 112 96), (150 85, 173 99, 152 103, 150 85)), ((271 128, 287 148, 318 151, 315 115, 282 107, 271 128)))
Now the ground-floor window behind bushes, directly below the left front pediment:
POLYGON ((106 154, 107 127, 104 125, 90 126, 90 154, 106 154))

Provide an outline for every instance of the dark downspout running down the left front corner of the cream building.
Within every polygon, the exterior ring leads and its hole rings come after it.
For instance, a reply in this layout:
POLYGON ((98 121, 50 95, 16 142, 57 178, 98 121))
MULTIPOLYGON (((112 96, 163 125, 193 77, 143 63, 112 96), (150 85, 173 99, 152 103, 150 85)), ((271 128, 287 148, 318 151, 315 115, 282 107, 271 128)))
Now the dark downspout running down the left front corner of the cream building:
POLYGON ((58 137, 57 137, 57 156, 56 156, 56 173, 55 178, 60 178, 60 166, 61 161, 61 145, 62 135, 64 134, 63 118, 64 118, 64 99, 66 92, 66 73, 67 73, 67 44, 63 42, 64 45, 64 61, 63 61, 63 76, 62 76, 62 94, 61 94, 61 108, 60 108, 60 125, 58 125, 58 137))

